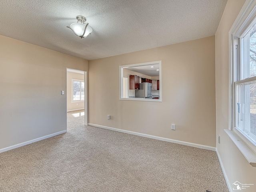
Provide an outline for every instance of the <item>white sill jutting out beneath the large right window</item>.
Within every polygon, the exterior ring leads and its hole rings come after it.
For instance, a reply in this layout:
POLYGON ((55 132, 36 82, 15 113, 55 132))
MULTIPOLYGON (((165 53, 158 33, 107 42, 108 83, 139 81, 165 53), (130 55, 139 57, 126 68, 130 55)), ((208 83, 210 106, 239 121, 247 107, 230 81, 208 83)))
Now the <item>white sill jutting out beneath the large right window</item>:
POLYGON ((228 134, 250 165, 256 167, 256 153, 234 131, 228 129, 224 129, 224 131, 228 134))

